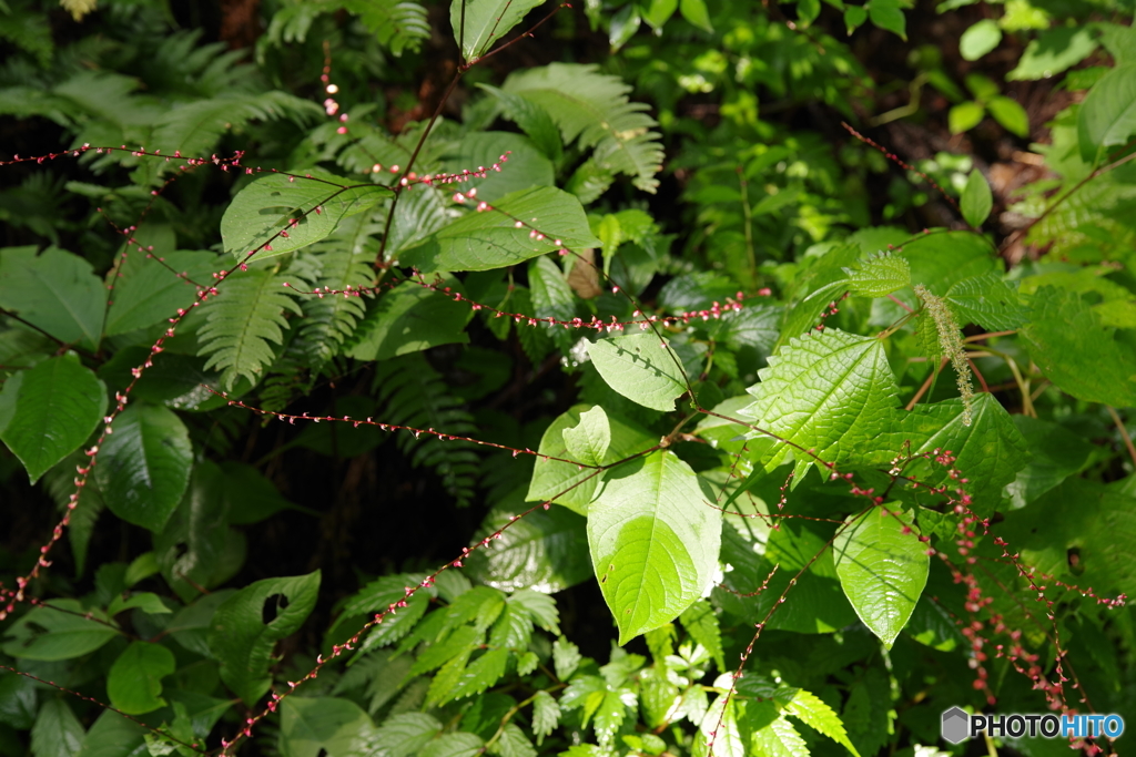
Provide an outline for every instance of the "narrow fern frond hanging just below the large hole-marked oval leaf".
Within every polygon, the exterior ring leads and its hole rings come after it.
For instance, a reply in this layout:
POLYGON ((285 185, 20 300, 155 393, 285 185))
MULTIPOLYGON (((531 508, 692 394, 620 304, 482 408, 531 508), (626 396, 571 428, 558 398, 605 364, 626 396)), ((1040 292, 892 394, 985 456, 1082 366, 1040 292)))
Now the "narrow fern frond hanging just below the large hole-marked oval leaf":
MULTIPOLYGON (((375 279, 370 266, 375 251, 369 249, 367 242, 379 230, 381 226, 371 224, 366 213, 360 213, 341 222, 334 236, 316 244, 311 254, 319 266, 316 286, 337 292, 369 286, 375 279)), ((319 370, 354 333, 356 323, 366 311, 366 303, 362 297, 356 296, 310 296, 302 301, 301 308, 303 320, 295 347, 309 368, 319 370)))

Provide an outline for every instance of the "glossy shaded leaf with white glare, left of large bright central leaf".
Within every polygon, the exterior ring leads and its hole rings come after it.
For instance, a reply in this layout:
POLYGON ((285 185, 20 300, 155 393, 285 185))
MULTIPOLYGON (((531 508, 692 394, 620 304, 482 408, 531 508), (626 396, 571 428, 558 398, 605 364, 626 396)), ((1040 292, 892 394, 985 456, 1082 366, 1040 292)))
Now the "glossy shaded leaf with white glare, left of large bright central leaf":
POLYGON ((509 528, 493 542, 492 549, 478 549, 469 556, 470 577, 503 591, 531 587, 549 594, 587 580, 592 565, 587 560, 586 521, 567 507, 538 510, 512 521, 519 506, 520 503, 486 515, 478 539, 507 524, 509 528))

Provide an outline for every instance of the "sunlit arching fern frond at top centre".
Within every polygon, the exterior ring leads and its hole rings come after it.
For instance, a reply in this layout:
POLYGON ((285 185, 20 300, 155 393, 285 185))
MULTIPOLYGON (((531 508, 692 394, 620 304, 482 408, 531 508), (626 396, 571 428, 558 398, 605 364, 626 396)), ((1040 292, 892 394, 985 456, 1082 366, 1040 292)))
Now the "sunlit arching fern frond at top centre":
POLYGON ((659 186, 662 144, 651 131, 658 123, 643 112, 648 106, 627 99, 632 87, 618 76, 592 65, 552 64, 513 74, 502 89, 544 108, 565 143, 578 137, 582 148, 594 149, 600 167, 633 176, 644 192, 659 186))

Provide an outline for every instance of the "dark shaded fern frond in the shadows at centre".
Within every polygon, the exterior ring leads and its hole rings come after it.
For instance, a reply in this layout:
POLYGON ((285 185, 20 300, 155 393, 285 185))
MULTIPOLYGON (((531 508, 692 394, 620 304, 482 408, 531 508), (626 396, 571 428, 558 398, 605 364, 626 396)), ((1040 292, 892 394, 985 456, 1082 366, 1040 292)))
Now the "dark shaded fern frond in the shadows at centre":
MULTIPOLYGON (((445 381, 421 353, 379 363, 374 387, 384 405, 383 419, 390 423, 462 436, 476 431, 473 414, 446 392, 445 381)), ((478 466, 473 443, 402 435, 399 448, 410 456, 415 468, 432 468, 459 506, 473 502, 478 466)))

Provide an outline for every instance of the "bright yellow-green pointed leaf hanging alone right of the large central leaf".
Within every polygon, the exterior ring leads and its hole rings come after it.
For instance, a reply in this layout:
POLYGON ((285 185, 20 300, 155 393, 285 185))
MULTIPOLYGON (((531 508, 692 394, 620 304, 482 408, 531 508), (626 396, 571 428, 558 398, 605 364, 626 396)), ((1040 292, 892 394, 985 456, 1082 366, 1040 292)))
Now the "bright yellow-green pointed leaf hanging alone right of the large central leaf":
POLYGON ((857 615, 888 649, 927 586, 930 558, 911 519, 872 507, 846 521, 833 542, 836 574, 857 615))

